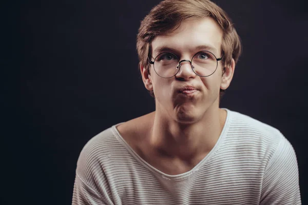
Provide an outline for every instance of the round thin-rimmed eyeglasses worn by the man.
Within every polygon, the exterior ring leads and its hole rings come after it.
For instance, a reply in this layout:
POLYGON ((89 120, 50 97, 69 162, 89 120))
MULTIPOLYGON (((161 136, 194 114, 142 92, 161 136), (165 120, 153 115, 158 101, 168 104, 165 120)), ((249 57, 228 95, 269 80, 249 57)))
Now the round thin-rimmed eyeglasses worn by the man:
POLYGON ((154 61, 150 61, 153 64, 155 72, 163 77, 170 78, 175 76, 181 69, 182 62, 189 62, 192 71, 201 77, 207 77, 213 74, 218 66, 218 61, 222 57, 216 58, 216 56, 209 51, 200 51, 192 56, 191 60, 179 60, 179 58, 169 52, 160 53, 154 61))

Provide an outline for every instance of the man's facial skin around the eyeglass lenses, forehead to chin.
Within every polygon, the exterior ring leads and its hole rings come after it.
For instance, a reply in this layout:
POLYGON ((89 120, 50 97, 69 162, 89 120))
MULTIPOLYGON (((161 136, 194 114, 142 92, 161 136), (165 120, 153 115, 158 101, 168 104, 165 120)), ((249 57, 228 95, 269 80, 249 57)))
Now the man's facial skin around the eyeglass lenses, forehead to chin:
MULTIPOLYGON (((175 34, 157 36, 152 41, 151 60, 162 52, 174 53, 179 60, 191 60, 194 54, 204 50, 219 58, 221 42, 222 31, 212 18, 185 20, 175 34)), ((144 71, 143 78, 147 78, 155 94, 156 111, 186 124, 196 122, 205 112, 218 108, 222 83, 220 62, 218 61, 215 73, 208 77, 195 74, 187 61, 181 63, 180 71, 171 78, 160 77, 151 65, 150 75, 146 77, 144 71), (196 90, 192 94, 181 92, 181 88, 185 86, 191 86, 196 90)))

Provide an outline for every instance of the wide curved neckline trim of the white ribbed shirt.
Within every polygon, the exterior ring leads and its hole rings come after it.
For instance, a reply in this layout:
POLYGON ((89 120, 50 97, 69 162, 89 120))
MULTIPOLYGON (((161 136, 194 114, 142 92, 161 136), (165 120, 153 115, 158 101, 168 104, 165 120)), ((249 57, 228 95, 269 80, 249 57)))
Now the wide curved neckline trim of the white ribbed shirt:
POLYGON ((147 161, 145 161, 141 156, 139 156, 139 154, 137 154, 131 147, 130 145, 126 142, 126 140, 121 136, 120 132, 117 129, 117 126, 123 124, 124 122, 121 122, 119 124, 113 125, 111 127, 111 130, 114 134, 115 137, 117 137, 118 141, 127 149, 127 151, 139 162, 141 163, 141 165, 143 165, 145 168, 147 168, 149 171, 151 171, 152 173, 156 174, 156 175, 161 175, 162 178, 166 179, 166 180, 181 180, 181 179, 185 179, 187 177, 191 177, 194 173, 198 172, 203 165, 206 164, 206 162, 209 161, 210 158, 212 158, 215 153, 217 152, 217 150, 219 150, 220 145, 222 144, 227 130, 229 128, 229 124, 230 124, 230 115, 231 115, 231 111, 226 109, 226 108, 222 108, 223 110, 225 110, 227 112, 227 116, 226 116, 226 120, 225 120, 225 124, 223 126, 223 129, 221 131, 221 134, 215 144, 215 146, 213 147, 213 149, 211 149, 211 151, 191 170, 182 173, 182 174, 177 174, 177 175, 169 175, 166 174, 160 170, 158 170, 157 168, 151 166, 147 161))

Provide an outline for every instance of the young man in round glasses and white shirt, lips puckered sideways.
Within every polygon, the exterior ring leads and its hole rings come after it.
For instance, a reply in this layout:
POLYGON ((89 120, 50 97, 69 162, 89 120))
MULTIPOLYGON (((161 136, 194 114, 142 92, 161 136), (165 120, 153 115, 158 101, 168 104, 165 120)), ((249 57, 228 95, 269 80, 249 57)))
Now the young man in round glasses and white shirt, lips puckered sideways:
POLYGON ((275 128, 219 108, 241 52, 208 0, 166 0, 137 49, 156 111, 93 137, 76 169, 73 204, 300 204, 295 152, 275 128))

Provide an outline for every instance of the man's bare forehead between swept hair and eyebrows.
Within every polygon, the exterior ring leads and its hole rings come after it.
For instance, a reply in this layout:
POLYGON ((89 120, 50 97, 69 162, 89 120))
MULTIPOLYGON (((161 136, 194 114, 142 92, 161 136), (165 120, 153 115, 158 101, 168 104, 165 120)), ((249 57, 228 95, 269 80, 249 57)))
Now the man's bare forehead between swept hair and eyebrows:
POLYGON ((157 36, 151 44, 152 53, 191 53, 208 50, 220 56, 222 30, 214 19, 205 17, 198 20, 184 20, 172 35, 157 36))

